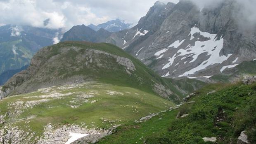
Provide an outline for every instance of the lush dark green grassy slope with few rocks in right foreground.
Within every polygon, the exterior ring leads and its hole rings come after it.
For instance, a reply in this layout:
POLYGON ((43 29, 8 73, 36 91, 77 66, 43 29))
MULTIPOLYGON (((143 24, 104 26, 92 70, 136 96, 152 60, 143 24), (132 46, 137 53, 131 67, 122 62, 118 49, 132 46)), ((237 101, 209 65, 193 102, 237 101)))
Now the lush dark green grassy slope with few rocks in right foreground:
POLYGON ((141 124, 120 127, 99 144, 211 144, 203 137, 217 137, 218 144, 236 144, 244 130, 251 144, 256 143, 256 84, 214 84, 198 93, 191 99, 194 103, 141 124), (217 92, 207 95, 212 90, 217 92), (178 111, 189 115, 175 120, 178 111), (160 129, 152 131, 156 126, 160 129))

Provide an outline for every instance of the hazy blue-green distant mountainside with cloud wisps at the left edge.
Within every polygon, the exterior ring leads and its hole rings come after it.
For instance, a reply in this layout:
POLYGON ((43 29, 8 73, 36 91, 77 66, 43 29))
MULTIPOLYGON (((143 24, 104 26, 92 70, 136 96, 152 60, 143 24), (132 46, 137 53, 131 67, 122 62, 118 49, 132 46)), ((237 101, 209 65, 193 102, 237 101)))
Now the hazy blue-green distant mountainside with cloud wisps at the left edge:
POLYGON ((60 39, 60 35, 61 30, 31 26, 1 26, 0 74, 28 65, 40 48, 52 45, 54 40, 60 39))

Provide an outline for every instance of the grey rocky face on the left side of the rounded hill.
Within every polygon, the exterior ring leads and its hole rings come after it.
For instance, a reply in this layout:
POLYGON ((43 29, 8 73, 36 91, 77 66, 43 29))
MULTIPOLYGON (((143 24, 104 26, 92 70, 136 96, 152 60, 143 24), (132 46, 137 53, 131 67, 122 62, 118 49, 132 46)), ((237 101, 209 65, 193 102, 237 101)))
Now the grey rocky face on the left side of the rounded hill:
POLYGON ((9 79, 4 86, 5 93, 1 92, 2 97, 7 94, 16 95, 33 92, 40 88, 56 85, 83 83, 88 79, 98 78, 97 74, 73 74, 82 70, 98 71, 105 69, 112 71, 115 67, 120 69, 119 65, 123 66, 128 74, 132 74, 136 70, 135 65, 128 58, 95 49, 86 49, 84 52, 78 53, 81 50, 80 47, 64 46, 59 54, 47 58, 52 54, 52 48, 42 49, 33 57, 27 70, 15 74, 14 77, 9 79), (74 57, 66 56, 71 52, 76 53, 74 57), (65 56, 66 58, 64 58, 65 56), (78 63, 74 63, 74 60, 78 63), (52 70, 55 72, 52 73, 52 70), (64 70, 64 73, 61 70, 64 70))

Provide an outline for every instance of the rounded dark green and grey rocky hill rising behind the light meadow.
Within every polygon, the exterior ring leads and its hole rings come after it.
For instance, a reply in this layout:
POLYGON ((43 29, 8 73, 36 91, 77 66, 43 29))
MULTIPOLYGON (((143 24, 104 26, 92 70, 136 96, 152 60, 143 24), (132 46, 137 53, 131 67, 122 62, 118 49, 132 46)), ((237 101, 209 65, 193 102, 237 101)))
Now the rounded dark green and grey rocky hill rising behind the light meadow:
POLYGON ((36 91, 85 81, 107 81, 164 98, 180 101, 178 86, 159 77, 139 60, 117 46, 105 43, 63 42, 41 49, 27 70, 9 79, 3 86, 7 95, 36 91), (173 91, 172 91, 173 90, 173 91))

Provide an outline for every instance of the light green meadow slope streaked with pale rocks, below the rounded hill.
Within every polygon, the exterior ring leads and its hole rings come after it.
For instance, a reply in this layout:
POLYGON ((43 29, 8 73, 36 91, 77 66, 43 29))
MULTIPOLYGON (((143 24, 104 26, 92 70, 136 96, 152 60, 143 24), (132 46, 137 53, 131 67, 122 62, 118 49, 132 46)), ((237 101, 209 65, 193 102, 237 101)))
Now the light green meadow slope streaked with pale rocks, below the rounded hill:
POLYGON ((51 123, 55 127, 85 124, 87 128, 111 128, 149 113, 173 106, 173 102, 135 88, 98 82, 45 88, 0 101, 0 128, 17 126, 43 135, 51 123), (109 122, 114 121, 114 122, 109 122))

